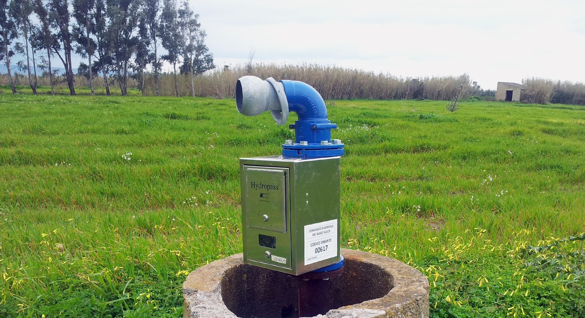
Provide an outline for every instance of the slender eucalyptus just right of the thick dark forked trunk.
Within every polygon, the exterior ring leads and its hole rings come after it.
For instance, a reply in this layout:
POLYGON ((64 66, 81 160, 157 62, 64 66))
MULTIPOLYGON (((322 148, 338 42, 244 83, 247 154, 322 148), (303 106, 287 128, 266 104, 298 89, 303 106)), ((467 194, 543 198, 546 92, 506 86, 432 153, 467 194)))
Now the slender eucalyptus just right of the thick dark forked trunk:
POLYGON ((94 75, 91 57, 95 53, 95 0, 73 0, 73 17, 77 24, 73 27, 73 36, 77 42, 75 53, 88 59, 91 95, 94 95, 94 75))

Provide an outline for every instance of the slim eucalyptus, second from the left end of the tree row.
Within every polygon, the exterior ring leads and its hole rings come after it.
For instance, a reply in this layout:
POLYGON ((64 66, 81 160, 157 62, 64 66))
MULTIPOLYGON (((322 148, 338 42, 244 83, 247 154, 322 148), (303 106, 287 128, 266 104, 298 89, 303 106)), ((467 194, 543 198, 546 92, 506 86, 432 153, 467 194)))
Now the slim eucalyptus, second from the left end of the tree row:
POLYGON ((19 61, 19 68, 27 72, 29 76, 29 85, 36 94, 37 78, 36 78, 36 61, 35 61, 35 47, 32 48, 32 57, 29 50, 31 32, 34 31, 34 26, 30 21, 30 16, 33 13, 33 4, 30 0, 12 0, 10 4, 10 12, 12 18, 16 22, 18 28, 18 35, 24 40, 25 46, 16 43, 15 49, 19 54, 26 55, 26 63, 19 61), (33 63, 33 74, 30 73, 30 61, 33 63))

